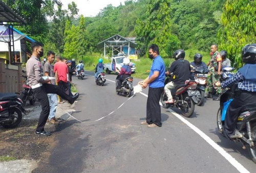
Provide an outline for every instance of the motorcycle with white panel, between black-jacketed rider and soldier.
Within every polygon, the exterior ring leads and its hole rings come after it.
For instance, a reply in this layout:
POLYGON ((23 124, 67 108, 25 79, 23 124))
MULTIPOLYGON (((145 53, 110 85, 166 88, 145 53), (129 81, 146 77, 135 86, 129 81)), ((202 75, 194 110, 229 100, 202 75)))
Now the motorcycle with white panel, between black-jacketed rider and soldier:
POLYGON ((197 82, 196 99, 197 105, 201 106, 204 102, 204 92, 207 85, 207 73, 203 69, 193 69, 195 74, 195 81, 197 82))

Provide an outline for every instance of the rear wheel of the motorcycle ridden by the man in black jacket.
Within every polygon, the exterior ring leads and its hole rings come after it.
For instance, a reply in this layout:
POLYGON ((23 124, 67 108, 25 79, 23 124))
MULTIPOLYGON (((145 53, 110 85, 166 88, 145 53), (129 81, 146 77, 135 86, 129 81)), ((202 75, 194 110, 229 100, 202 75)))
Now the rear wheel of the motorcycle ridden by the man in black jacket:
POLYGON ((182 112, 182 115, 184 117, 191 117, 193 114, 194 114, 194 110, 195 110, 195 103, 194 101, 192 100, 191 97, 188 96, 187 93, 185 93, 183 95, 183 104, 182 106, 180 107, 181 108, 181 112, 182 112))

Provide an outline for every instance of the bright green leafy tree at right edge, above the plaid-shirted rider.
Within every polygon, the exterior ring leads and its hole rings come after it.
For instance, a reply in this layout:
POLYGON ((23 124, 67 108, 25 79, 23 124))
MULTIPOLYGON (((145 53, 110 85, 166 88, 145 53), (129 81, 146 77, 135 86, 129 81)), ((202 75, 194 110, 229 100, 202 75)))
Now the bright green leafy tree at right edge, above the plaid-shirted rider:
POLYGON ((241 49, 256 40, 256 1, 227 0, 218 33, 219 47, 228 52, 232 62, 242 66, 241 49))

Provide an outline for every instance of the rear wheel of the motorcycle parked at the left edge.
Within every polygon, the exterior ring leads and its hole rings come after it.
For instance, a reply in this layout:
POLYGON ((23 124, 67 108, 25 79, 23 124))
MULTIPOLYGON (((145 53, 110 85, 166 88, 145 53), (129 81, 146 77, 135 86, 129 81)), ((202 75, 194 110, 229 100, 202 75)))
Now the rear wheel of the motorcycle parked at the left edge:
POLYGON ((17 109, 17 107, 12 107, 9 111, 10 117, 12 118, 12 123, 10 124, 3 124, 5 128, 14 128, 18 126, 20 121, 22 121, 22 112, 17 109))

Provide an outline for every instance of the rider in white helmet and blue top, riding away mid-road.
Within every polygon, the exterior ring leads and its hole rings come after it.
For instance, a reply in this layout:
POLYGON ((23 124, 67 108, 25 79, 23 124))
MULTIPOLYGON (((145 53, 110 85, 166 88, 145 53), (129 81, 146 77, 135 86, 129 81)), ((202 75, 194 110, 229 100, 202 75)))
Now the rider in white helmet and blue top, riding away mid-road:
POLYGON ((121 70, 119 71, 119 80, 117 80, 117 90, 121 89, 121 83, 123 80, 127 77, 130 77, 132 74, 132 69, 129 66, 130 59, 129 58, 123 58, 123 66, 121 70))

